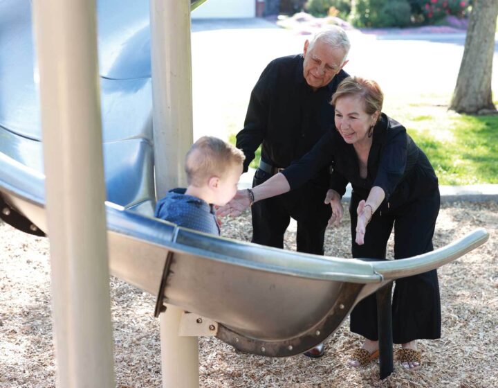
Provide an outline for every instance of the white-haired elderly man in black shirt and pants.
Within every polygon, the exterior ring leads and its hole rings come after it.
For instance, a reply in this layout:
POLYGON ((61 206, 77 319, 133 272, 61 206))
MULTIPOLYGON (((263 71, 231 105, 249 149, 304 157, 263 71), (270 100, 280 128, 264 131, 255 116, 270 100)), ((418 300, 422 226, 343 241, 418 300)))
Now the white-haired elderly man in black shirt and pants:
MULTIPOLYGON (((288 167, 313 148, 334 121, 329 104, 339 83, 348 76, 349 39, 340 27, 306 40, 299 55, 277 58, 268 64, 252 90, 237 148, 246 160, 244 171, 262 144, 261 161, 252 186, 288 167)), ((324 203, 329 168, 290 193, 252 206, 252 242, 284 247, 290 218, 297 220, 297 251, 324 254, 324 234, 331 209, 324 203)))

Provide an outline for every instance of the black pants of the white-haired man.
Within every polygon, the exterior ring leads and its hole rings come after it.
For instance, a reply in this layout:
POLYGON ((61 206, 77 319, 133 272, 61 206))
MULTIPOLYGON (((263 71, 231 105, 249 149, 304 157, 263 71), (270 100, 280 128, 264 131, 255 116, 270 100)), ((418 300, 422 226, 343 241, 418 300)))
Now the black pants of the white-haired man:
MULTIPOLYGON (((271 177, 259 168, 252 187, 271 177)), ((268 247, 284 247, 284 233, 297 221, 297 252, 324 254, 324 235, 331 216, 330 205, 324 204, 326 186, 308 182, 289 193, 277 195, 252 205, 252 243, 268 247)))

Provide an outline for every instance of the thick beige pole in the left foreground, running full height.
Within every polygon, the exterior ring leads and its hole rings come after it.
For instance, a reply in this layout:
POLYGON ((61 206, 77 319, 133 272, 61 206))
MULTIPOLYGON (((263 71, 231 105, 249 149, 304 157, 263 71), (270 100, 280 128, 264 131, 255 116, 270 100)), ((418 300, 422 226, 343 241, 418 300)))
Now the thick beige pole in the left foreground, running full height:
POLYGON ((33 1, 59 387, 115 387, 95 1, 33 1))

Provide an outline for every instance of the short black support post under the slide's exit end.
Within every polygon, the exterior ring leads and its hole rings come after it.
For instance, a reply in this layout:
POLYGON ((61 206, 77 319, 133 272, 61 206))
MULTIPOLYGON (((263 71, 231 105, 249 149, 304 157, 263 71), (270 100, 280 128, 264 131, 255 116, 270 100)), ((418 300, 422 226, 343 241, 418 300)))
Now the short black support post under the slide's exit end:
POLYGON ((379 340, 380 378, 387 378, 394 371, 392 350, 392 282, 377 291, 377 326, 379 340))

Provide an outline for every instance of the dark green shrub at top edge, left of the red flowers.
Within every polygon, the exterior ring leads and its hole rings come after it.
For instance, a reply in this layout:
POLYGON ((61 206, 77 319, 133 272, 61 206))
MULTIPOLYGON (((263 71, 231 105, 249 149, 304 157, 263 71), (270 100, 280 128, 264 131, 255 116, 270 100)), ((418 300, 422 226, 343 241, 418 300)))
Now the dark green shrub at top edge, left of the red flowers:
POLYGON ((405 27, 410 12, 407 0, 356 0, 350 19, 357 27, 405 27))

